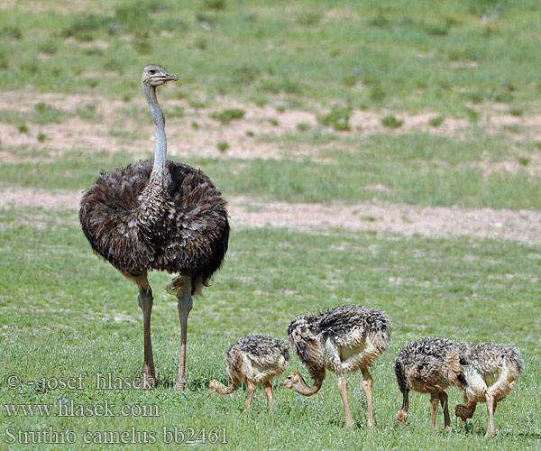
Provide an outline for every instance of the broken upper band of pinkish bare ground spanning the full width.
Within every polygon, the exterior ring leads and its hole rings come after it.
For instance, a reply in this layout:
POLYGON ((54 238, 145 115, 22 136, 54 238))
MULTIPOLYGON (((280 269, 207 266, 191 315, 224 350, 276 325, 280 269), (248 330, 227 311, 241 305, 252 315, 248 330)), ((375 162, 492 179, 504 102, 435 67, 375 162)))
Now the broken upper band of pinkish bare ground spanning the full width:
MULTIPOLYGON (((181 117, 168 115, 167 132, 171 156, 280 159, 312 155, 314 158, 317 150, 328 147, 326 143, 308 144, 280 140, 280 136, 284 134, 299 133, 298 124, 307 124, 312 130, 320 127, 313 112, 319 111, 317 106, 307 106, 307 109, 313 111, 291 108, 283 111, 280 108, 279 111, 277 109, 279 105, 246 105, 222 97, 216 98, 213 106, 208 108, 194 108, 185 100, 170 98, 172 92, 171 87, 164 87, 160 92, 160 102, 166 115, 175 108, 182 109, 184 115, 181 117), (242 120, 221 124, 209 117, 213 111, 233 107, 245 111, 242 120), (197 127, 194 124, 197 124, 197 127), (251 132, 255 136, 250 136, 251 132), (225 152, 218 150, 217 144, 220 142, 229 144, 225 152)), ((38 157, 40 161, 58 158, 60 153, 74 149, 84 152, 126 151, 133 155, 133 159, 148 157, 151 152, 153 139, 151 121, 146 113, 143 98, 124 102, 89 95, 11 91, 3 93, 0 98, 0 110, 11 109, 30 114, 34 106, 40 102, 67 112, 66 117, 60 124, 28 124, 28 133, 20 133, 17 129, 18 124, 0 122, 2 144, 6 148, 14 149, 12 152, 0 152, 0 162, 20 161, 16 155, 16 148, 20 146, 29 146, 40 151, 41 155, 38 157), (87 104, 96 106, 96 115, 99 117, 96 122, 85 121, 76 114, 78 107, 87 104), (46 136, 42 143, 37 139, 40 133, 46 136)), ((505 133, 513 139, 532 142, 541 140, 541 115, 527 117, 509 115, 506 107, 499 104, 486 106, 479 125, 490 133, 505 133), (520 126, 521 132, 509 132, 505 129, 509 125, 520 126)), ((458 137, 471 130, 468 121, 452 117, 445 118, 444 123, 438 127, 430 126, 430 119, 436 116, 436 113, 430 112, 416 115, 399 114, 397 116, 404 124, 399 129, 390 130, 381 124, 381 118, 389 114, 390 112, 386 111, 354 111, 350 119, 351 131, 333 132, 330 128, 326 131, 342 137, 415 131, 458 137)), ((487 175, 501 169, 513 173, 521 169, 531 175, 541 174, 541 156, 538 152, 528 154, 527 157, 529 159, 527 166, 521 166, 517 161, 474 161, 471 164, 481 168, 487 175)))

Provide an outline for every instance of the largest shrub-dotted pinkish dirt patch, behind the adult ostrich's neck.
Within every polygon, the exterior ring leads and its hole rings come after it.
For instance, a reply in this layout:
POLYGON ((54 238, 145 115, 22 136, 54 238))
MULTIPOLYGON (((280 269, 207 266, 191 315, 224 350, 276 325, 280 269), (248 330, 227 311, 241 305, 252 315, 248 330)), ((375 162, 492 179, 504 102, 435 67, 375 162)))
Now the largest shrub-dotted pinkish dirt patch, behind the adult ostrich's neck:
MULTIPOLYGON (((300 122, 314 126, 315 115, 289 110, 278 113, 271 106, 250 107, 229 100, 221 101, 219 108, 196 109, 187 106, 184 101, 168 99, 166 92, 162 93, 160 99, 166 116, 168 110, 174 107, 181 107, 185 111, 185 115, 181 117, 167 119, 168 152, 171 156, 225 156, 251 159, 296 157, 313 152, 314 147, 306 143, 280 143, 279 139, 261 141, 248 134, 253 132, 254 135, 257 133, 279 136, 281 133, 292 133, 300 122), (209 117, 212 111, 233 107, 243 108, 245 115, 242 120, 221 124, 209 117), (278 120, 279 125, 272 125, 270 120, 278 120), (193 126, 194 123, 197 124, 197 128, 193 126), (217 143, 220 142, 229 144, 225 152, 218 150, 217 143)), ((0 98, 0 109, 13 110, 16 106, 20 112, 31 113, 34 106, 40 102, 66 111, 69 116, 60 124, 29 123, 28 133, 19 133, 18 124, 0 123, 0 140, 3 145, 14 148, 32 146, 38 151, 74 149, 84 152, 126 151, 132 153, 134 158, 143 158, 153 152, 150 115, 148 117, 145 115, 145 119, 136 120, 122 113, 131 108, 143 108, 146 112, 144 98, 123 102, 87 95, 8 91, 0 98), (76 114, 78 107, 87 104, 96 106, 96 115, 102 118, 100 122, 84 121, 76 114), (40 133, 46 135, 42 143, 37 140, 40 133)), ((0 161, 16 161, 13 153, 4 152, 0 157, 2 158, 0 161)), ((49 159, 50 156, 45 154, 40 160, 49 159)))

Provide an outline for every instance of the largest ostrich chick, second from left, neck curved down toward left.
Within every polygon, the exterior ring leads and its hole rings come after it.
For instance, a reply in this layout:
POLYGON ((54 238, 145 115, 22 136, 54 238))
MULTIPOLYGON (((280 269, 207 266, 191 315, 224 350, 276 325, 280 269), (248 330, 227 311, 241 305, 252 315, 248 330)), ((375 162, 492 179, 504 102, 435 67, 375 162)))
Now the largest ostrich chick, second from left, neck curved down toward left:
POLYGON ((373 426, 372 378, 368 367, 390 345, 390 320, 376 308, 343 305, 316 314, 295 318, 288 328, 289 343, 314 379, 311 387, 297 371, 280 383, 311 396, 321 388, 326 369, 336 373, 338 391, 344 403, 345 426, 353 427, 344 373, 362 371, 362 391, 366 396, 368 425, 373 426))

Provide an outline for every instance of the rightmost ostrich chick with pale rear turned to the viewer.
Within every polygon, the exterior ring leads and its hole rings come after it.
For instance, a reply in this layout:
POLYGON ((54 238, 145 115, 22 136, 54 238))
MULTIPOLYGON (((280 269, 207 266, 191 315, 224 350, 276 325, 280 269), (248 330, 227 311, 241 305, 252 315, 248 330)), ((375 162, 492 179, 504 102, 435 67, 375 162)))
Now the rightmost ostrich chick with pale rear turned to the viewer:
POLYGON ((524 364, 513 346, 492 343, 471 345, 466 359, 468 366, 464 377, 467 385, 462 387, 466 405, 458 404, 454 413, 463 421, 471 419, 476 404, 486 402, 489 413, 486 436, 493 436, 496 403, 517 385, 524 364))

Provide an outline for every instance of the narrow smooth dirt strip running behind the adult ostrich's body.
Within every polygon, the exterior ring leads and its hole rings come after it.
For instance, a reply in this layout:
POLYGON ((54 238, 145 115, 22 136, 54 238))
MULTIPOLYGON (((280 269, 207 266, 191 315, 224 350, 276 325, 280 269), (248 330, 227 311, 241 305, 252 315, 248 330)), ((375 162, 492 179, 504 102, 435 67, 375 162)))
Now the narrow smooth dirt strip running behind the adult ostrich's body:
MULTIPOLYGON (((0 188, 1 207, 78 209, 81 193, 50 193, 34 189, 0 188)), ((274 226, 296 230, 342 227, 403 235, 445 237, 469 235, 541 244, 541 212, 491 208, 416 207, 388 202, 336 201, 329 204, 289 204, 256 198, 228 198, 236 226, 274 226)))

